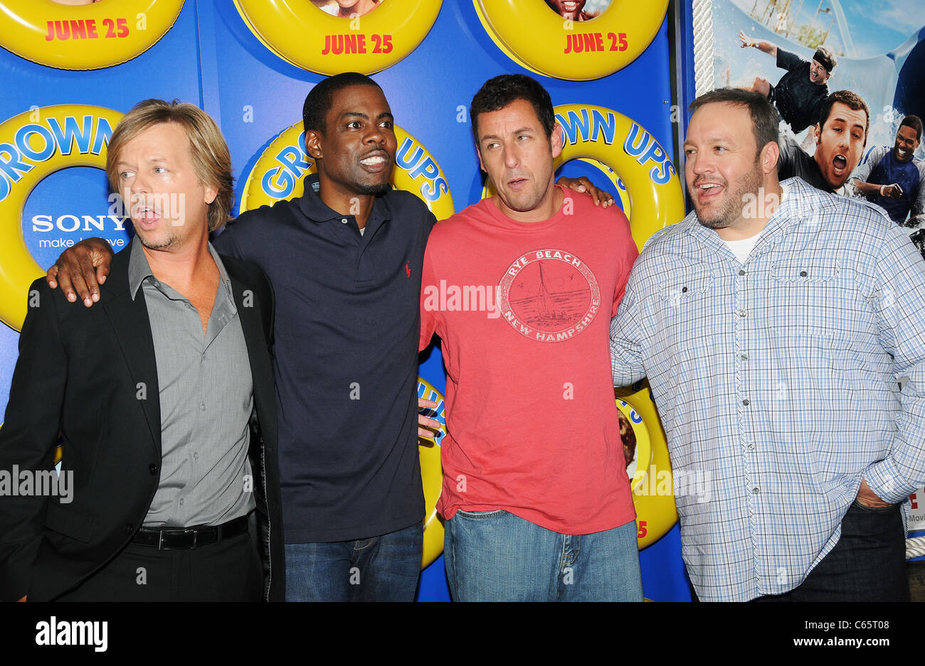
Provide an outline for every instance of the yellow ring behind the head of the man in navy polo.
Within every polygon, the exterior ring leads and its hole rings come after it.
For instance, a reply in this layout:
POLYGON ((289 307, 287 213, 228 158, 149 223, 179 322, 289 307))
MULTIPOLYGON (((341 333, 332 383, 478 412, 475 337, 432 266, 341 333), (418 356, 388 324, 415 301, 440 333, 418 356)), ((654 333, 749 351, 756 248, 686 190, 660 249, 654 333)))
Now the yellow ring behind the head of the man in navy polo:
MULTIPOLYGON (((301 197, 306 174, 314 174, 314 159, 305 153, 302 121, 284 130, 270 142, 244 182, 240 211, 272 206, 278 200, 301 197)), ((398 150, 392 186, 416 194, 438 220, 453 214, 453 198, 443 170, 420 141, 395 126, 398 150)))

